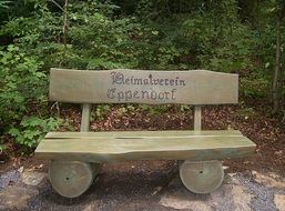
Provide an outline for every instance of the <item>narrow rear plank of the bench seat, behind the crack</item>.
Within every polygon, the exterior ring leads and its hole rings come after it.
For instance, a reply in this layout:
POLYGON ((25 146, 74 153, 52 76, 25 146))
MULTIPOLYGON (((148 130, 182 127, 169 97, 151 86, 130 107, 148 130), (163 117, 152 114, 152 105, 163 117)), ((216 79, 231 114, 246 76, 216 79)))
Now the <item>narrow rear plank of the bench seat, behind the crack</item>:
POLYGON ((49 132, 45 138, 49 139, 73 139, 73 138, 98 138, 98 137, 123 137, 123 138, 143 138, 143 137, 243 137, 238 130, 167 130, 167 131, 103 131, 103 132, 49 132))

